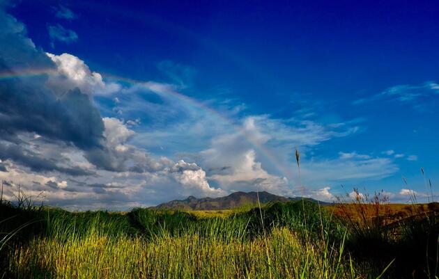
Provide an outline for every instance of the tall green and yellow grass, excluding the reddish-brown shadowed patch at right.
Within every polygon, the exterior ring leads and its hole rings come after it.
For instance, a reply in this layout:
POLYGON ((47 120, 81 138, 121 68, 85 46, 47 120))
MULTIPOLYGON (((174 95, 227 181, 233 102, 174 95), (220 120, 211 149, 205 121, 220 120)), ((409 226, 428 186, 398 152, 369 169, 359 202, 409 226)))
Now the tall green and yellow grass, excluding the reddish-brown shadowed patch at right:
MULTIPOLYGON (((4 207, 4 206, 3 206, 4 207)), ((2 207, 2 208, 3 208, 2 207)), ((305 202, 310 233, 303 233, 302 202, 272 204, 228 217, 133 209, 126 214, 35 214, 3 251, 8 278, 375 278, 344 251, 344 242, 318 230, 318 207, 305 202), (261 216, 265 234, 261 230, 261 216)), ((3 211, 2 211, 3 212, 3 211)), ((26 218, 31 216, 26 215, 26 218)), ((319 225, 320 224, 320 225, 319 225)), ((323 225, 329 225, 325 223, 323 225)))

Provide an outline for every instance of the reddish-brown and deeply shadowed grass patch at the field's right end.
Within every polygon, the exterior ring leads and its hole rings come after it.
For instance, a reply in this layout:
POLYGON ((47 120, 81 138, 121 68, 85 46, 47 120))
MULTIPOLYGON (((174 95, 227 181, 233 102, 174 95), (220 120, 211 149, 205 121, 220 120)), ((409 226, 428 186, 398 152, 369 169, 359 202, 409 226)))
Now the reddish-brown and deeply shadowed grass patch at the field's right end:
POLYGON ((438 278, 438 204, 391 205, 381 193, 354 193, 353 202, 330 207, 348 228, 351 255, 378 268, 394 260, 394 278, 438 278))

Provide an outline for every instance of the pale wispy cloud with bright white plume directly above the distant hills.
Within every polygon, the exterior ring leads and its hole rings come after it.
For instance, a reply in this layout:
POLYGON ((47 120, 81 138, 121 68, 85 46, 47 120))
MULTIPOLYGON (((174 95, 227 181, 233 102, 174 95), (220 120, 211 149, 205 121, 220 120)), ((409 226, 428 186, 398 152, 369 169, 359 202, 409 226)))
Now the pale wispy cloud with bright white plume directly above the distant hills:
POLYGON ((291 174, 288 171, 291 168, 291 157, 288 157, 288 152, 291 153, 295 146, 305 150, 330 138, 348 136, 355 132, 344 123, 325 126, 312 121, 272 119, 268 115, 243 118, 238 120, 238 124, 233 129, 230 129, 229 123, 224 124, 223 127, 221 122, 210 122, 210 116, 201 114, 201 117, 194 122, 192 118, 188 119, 189 122, 184 120, 181 127, 178 126, 176 129, 167 127, 166 131, 161 132, 160 139, 156 137, 158 136, 156 130, 135 135, 132 141, 157 142, 164 146, 164 149, 169 148, 167 143, 172 143, 170 148, 175 148, 176 141, 183 141, 182 145, 188 149, 193 144, 192 137, 197 136, 194 138, 195 143, 200 146, 208 145, 207 148, 199 155, 192 154, 190 157, 190 154, 183 154, 183 156, 197 160, 206 170, 208 180, 218 185, 220 189, 224 191, 263 189, 291 196, 293 187, 287 176, 295 176, 295 173, 291 174), (207 141, 210 142, 203 143, 205 138, 203 134, 208 135, 207 141), (281 168, 286 171, 280 170, 281 168))

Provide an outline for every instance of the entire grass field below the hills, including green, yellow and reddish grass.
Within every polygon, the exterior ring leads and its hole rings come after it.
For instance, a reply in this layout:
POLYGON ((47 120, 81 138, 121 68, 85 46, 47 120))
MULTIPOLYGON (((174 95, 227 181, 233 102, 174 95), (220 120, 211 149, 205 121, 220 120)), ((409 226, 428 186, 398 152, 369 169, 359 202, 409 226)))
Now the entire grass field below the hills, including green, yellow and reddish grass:
POLYGON ((373 206, 118 213, 2 202, 0 278, 437 278, 436 207, 396 219, 410 211, 392 205, 390 226, 373 206))

